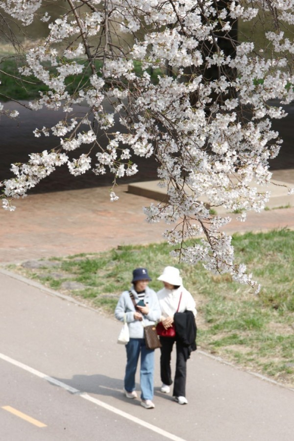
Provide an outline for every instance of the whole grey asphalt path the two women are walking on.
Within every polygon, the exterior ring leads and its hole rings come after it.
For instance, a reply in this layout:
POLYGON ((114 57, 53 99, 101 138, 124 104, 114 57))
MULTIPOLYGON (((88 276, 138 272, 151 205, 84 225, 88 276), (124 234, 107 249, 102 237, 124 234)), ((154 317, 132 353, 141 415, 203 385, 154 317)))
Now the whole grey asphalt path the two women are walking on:
POLYGON ((5 270, 0 287, 1 440, 293 439, 293 390, 200 348, 188 361, 189 404, 180 406, 160 392, 156 351, 155 409, 146 410, 122 392, 119 322, 5 270))

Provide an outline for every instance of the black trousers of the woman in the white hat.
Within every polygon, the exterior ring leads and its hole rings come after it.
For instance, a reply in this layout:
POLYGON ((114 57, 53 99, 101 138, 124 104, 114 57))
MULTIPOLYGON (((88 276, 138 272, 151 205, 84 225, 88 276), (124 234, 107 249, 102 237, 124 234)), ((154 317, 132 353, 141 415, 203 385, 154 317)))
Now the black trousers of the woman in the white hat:
POLYGON ((187 361, 183 346, 174 337, 160 337, 160 376, 161 381, 170 386, 172 384, 172 369, 171 369, 171 356, 172 347, 176 345, 176 362, 175 362, 175 375, 173 383, 173 396, 186 396, 186 374, 187 374, 187 361))

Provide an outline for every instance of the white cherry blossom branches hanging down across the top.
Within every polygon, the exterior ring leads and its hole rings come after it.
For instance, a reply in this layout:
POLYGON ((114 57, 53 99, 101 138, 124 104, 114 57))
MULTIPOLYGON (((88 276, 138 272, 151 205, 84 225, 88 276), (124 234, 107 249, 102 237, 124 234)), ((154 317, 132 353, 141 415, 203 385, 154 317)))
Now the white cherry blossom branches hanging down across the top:
POLYGON ((48 86, 31 109, 64 112, 53 127, 34 131, 56 137, 56 148, 12 165, 15 177, 1 182, 3 208, 13 210, 13 199, 65 163, 75 176, 112 172, 114 201, 118 179, 137 173, 134 156, 153 155, 169 200, 145 208, 147 220, 167 223, 164 235, 182 261, 201 261, 258 291, 221 231, 229 216, 212 208, 238 210, 245 221, 247 211, 264 209, 269 199, 255 184, 269 183, 269 161, 282 142, 271 119, 285 116, 282 105, 294 99, 294 0, 65 0, 56 2, 56 20, 46 4, 0 0, 22 26, 48 24, 44 44, 25 51, 19 73, 48 86), (261 29, 263 44, 238 40, 237 23, 251 24, 252 35, 261 29), (87 69, 89 80, 69 93, 67 78, 87 69), (72 106, 81 103, 87 113, 72 117, 72 106), (85 144, 89 152, 79 154, 85 144))

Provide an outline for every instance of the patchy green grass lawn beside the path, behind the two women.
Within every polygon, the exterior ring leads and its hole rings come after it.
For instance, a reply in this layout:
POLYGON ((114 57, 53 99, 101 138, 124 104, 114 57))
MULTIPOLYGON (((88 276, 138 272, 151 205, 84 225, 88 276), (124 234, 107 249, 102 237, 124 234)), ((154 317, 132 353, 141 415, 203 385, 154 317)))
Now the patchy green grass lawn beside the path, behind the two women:
POLYGON ((174 265, 196 300, 198 347, 294 387, 294 231, 234 235, 233 245, 237 261, 245 262, 262 284, 257 296, 228 275, 214 275, 200 264, 179 264, 165 244, 52 258, 38 261, 38 269, 7 268, 113 316, 134 268, 147 267, 150 287, 157 291, 162 283, 156 278, 174 265), (79 283, 79 289, 67 282, 79 283))

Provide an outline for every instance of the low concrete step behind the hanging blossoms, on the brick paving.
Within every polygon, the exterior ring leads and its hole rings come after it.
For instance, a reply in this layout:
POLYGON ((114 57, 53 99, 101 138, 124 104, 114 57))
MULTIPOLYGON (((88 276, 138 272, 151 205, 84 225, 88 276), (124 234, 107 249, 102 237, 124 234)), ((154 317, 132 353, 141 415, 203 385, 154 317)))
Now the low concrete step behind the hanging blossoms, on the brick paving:
MULTIPOLYGON (((146 182, 135 182, 128 185, 128 193, 133 195, 148 197, 150 199, 155 199, 161 202, 167 202, 167 189, 159 187, 159 180, 156 181, 146 181, 146 182)), ((253 184, 252 184, 253 186, 253 184)), ((270 200, 268 201, 266 207, 268 209, 274 208, 285 208, 294 206, 294 195, 288 194, 288 188, 294 188, 294 184, 287 182, 282 182, 278 180, 271 180, 268 186, 255 185, 259 192, 269 191, 270 200), (287 188, 288 187, 288 188, 287 188)), ((199 198, 199 200, 208 202, 205 196, 199 198)), ((211 207, 215 208, 218 214, 225 213, 225 209, 222 207, 211 207)))

